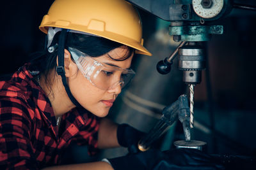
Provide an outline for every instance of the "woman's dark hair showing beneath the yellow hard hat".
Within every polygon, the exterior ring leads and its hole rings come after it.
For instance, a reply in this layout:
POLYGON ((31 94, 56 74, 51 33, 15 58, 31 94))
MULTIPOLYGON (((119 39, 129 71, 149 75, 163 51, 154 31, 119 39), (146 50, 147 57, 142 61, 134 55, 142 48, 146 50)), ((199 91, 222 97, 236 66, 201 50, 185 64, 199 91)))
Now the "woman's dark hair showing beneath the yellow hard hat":
MULTIPOLYGON (((57 46, 56 50, 54 52, 49 53, 47 49, 45 49, 43 52, 36 52, 29 57, 31 60, 30 62, 30 68, 31 70, 40 71, 42 75, 45 76, 45 84, 47 85, 47 88, 51 91, 51 81, 48 80, 48 74, 52 69, 55 69, 57 66, 56 58, 58 55, 58 40, 59 40, 60 32, 57 32, 54 38, 52 39, 52 43, 50 46, 57 46)), ((74 32, 68 32, 67 38, 65 41, 65 48, 70 46, 72 48, 76 48, 77 50, 80 50, 83 53, 86 53, 87 55, 90 55, 91 57, 99 57, 101 55, 104 55, 111 50, 124 46, 121 43, 117 43, 115 41, 111 41, 106 38, 102 38, 99 36, 90 36, 86 34, 78 34, 74 32)), ((124 46, 124 48, 128 48, 127 52, 123 57, 120 57, 119 59, 113 59, 110 55, 110 57, 113 60, 125 60, 131 57, 132 53, 134 53, 134 48, 131 48, 129 46, 124 46)))

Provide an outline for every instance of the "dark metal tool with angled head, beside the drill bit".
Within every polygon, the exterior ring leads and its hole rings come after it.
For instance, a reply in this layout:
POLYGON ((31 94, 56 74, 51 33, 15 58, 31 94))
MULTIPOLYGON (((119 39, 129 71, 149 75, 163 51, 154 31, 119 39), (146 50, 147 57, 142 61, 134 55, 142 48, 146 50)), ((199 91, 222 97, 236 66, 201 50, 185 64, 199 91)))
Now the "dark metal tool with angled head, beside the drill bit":
MULTIPOLYGON (((141 138, 138 143, 138 148, 141 151, 146 151, 154 141, 156 141, 164 132, 167 127, 172 125, 178 119, 184 125, 184 127, 189 127, 189 106, 188 98, 186 95, 181 95, 177 101, 172 103, 170 106, 166 106, 163 109, 161 119, 156 125, 141 138)), ((186 129, 186 139, 190 140, 190 130, 186 129)), ((185 132, 184 132, 185 133, 185 132)))

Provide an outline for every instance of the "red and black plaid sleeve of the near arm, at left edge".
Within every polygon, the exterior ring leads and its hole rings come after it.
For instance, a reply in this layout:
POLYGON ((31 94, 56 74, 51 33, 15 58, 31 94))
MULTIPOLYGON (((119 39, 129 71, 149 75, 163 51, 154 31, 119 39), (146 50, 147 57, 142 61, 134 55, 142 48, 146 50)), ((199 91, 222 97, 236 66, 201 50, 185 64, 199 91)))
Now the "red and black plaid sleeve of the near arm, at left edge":
POLYGON ((38 169, 29 140, 31 113, 25 103, 17 92, 0 93, 0 169, 38 169), (16 97, 6 97, 10 93, 16 97))

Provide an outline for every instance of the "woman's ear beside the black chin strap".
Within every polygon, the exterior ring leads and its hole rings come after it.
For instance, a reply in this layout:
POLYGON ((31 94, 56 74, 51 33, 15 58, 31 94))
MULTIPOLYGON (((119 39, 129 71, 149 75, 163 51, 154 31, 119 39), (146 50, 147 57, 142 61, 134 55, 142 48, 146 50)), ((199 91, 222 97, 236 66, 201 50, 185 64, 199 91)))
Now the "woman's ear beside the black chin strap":
MULTIPOLYGON (((57 57, 57 65, 58 65, 58 57, 57 57)), ((71 59, 71 54, 67 49, 64 50, 64 69, 65 76, 68 78, 75 73, 77 73, 76 63, 71 59)))

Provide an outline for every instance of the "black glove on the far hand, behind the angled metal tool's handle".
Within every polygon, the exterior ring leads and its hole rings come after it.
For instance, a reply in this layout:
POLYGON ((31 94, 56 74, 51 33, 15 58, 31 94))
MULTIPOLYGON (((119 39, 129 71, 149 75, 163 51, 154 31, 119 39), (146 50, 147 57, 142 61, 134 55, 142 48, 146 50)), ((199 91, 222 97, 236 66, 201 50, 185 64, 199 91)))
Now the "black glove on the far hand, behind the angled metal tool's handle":
POLYGON ((129 153, 138 152, 138 141, 145 133, 138 131, 128 124, 120 124, 117 127, 117 140, 120 146, 128 148, 129 153))

